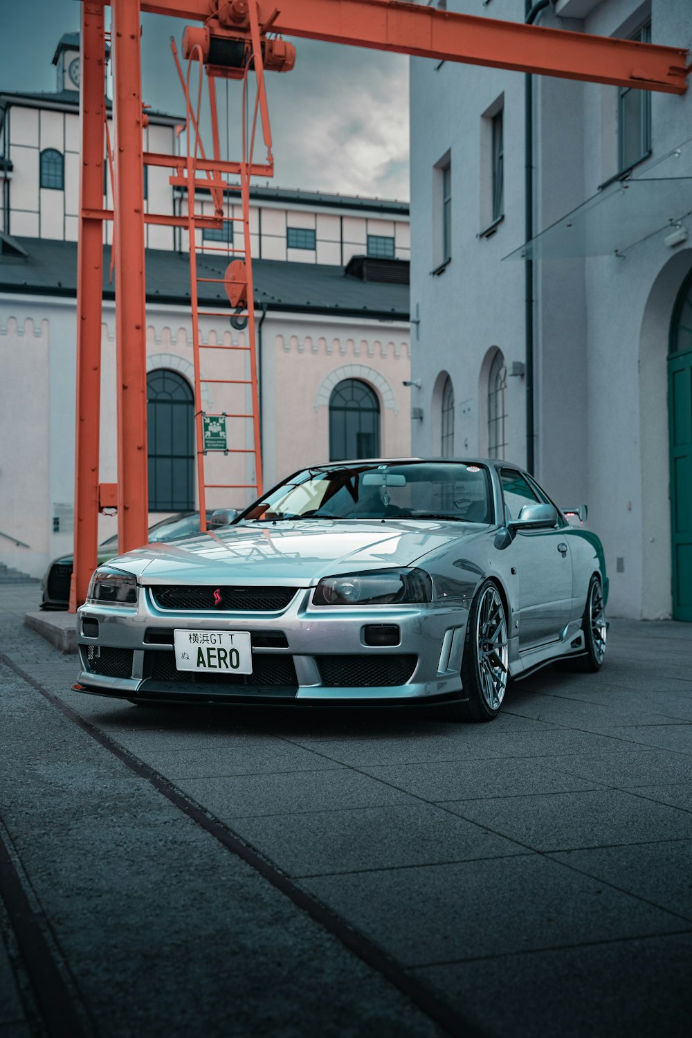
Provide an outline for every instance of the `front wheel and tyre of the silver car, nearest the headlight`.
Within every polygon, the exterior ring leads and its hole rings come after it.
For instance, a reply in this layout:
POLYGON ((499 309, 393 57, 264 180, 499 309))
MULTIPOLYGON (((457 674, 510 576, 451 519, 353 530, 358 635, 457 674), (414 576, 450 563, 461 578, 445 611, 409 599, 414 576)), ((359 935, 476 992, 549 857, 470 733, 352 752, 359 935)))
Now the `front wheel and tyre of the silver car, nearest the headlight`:
POLYGON ((485 580, 473 597, 464 636, 462 686, 466 703, 447 707, 450 720, 497 717, 509 678, 507 618, 497 584, 485 580))

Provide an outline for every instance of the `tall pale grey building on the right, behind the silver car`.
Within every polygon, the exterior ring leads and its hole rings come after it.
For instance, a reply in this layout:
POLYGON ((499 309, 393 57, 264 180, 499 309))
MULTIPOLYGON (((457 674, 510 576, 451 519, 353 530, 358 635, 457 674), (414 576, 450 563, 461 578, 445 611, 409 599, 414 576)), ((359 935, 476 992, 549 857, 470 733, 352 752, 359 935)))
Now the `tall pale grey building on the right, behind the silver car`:
MULTIPOLYGON (((689 0, 557 0, 537 23, 692 43, 689 0)), ((525 91, 518 73, 411 62, 413 449, 526 462, 532 257, 536 477, 588 503, 612 614, 692 621, 692 90, 532 77, 528 248, 525 91)))

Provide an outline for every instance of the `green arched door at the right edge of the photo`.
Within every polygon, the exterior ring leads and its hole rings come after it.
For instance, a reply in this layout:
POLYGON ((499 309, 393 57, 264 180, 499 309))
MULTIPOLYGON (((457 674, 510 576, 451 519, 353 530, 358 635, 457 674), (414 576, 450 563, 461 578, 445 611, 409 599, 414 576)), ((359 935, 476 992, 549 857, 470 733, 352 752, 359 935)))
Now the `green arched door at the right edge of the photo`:
POLYGON ((692 274, 677 297, 668 356, 672 618, 692 622, 692 274))

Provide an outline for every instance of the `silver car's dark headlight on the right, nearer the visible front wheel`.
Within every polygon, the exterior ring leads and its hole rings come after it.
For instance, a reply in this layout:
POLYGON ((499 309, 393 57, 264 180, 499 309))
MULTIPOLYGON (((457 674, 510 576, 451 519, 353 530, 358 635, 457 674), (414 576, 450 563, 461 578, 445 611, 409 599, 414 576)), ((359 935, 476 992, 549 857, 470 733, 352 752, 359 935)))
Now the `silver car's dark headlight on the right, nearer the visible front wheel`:
POLYGON ((398 605, 432 602, 433 581, 417 569, 370 570, 324 577, 317 584, 313 605, 398 605))

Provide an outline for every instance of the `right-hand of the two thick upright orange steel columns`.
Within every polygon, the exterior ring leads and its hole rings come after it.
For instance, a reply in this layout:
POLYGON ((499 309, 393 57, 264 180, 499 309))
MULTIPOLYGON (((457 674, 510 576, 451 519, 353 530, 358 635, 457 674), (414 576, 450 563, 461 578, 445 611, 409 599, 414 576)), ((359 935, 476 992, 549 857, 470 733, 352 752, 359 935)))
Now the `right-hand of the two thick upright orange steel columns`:
POLYGON ((146 544, 146 296, 139 0, 113 0, 118 551, 146 544))

